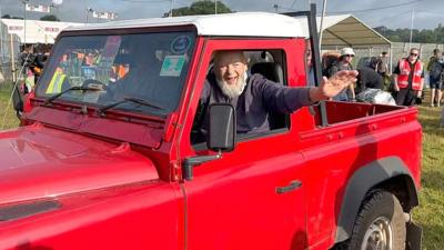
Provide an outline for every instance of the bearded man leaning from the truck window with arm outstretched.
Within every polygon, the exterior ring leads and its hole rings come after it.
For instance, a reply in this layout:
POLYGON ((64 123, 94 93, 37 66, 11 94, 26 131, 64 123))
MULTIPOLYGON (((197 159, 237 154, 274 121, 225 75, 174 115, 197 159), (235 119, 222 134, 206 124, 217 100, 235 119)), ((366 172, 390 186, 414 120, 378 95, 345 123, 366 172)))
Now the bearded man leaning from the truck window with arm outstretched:
POLYGON ((270 130, 270 112, 291 113, 327 100, 355 82, 357 76, 356 71, 344 70, 329 80, 324 78, 320 87, 292 88, 270 81, 259 73, 249 76, 242 51, 218 51, 213 58, 213 73, 204 83, 194 123, 201 137, 192 138, 194 142, 204 141, 209 127, 208 109, 212 103, 231 103, 236 109, 238 134, 261 133, 270 130))

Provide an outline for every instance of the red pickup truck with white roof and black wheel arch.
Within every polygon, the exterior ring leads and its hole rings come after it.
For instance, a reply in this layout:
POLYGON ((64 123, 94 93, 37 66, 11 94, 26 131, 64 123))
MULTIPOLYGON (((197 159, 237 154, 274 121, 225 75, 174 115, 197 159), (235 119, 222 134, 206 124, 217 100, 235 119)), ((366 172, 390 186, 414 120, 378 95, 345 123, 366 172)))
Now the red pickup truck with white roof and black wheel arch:
POLYGON ((214 53, 307 88, 303 30, 241 12, 62 31, 26 126, 0 133, 0 248, 418 249, 415 108, 327 101, 236 134, 215 106, 194 141, 214 53), (380 197, 392 212, 366 216, 380 197))

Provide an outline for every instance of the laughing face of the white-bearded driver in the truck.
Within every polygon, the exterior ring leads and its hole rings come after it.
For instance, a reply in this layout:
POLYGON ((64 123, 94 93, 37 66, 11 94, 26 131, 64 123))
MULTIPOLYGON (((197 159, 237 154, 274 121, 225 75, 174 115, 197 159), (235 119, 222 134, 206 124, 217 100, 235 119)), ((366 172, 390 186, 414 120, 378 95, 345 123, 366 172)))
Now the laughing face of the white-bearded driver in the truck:
POLYGON ((214 62, 215 77, 229 86, 235 86, 243 80, 248 69, 245 58, 238 51, 221 52, 214 62))

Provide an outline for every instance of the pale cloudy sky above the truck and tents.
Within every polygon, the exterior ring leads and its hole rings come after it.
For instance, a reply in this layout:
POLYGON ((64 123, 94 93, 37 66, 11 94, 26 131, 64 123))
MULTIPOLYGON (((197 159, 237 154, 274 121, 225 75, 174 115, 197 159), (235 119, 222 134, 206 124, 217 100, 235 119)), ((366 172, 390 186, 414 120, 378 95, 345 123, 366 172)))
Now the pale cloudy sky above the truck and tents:
MULTIPOLYGON (((60 0, 59 0, 60 1, 60 0)), ((118 20, 158 18, 170 8, 190 6, 195 0, 62 0, 52 14, 67 22, 103 22, 87 17, 87 8, 95 11, 115 12, 118 20)), ((29 0, 31 4, 50 4, 51 0, 29 0)), ((323 0, 222 0, 233 11, 289 12, 307 10, 309 2, 316 3, 319 12, 323 0), (275 8, 278 7, 278 9, 275 8)), ((23 17, 22 0, 0 0, 1 16, 23 17)), ((434 29, 444 24, 444 0, 326 0, 326 14, 354 14, 370 27, 385 26, 390 29, 434 29), (413 17, 413 19, 412 19, 413 17)), ((44 14, 27 12, 28 19, 44 14)))

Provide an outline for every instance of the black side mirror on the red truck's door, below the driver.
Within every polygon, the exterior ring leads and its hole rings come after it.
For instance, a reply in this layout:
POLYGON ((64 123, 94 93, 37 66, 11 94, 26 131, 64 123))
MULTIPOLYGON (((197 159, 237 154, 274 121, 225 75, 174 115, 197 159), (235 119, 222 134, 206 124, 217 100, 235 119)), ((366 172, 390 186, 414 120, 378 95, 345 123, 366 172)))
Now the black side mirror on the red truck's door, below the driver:
POLYGON ((218 152, 233 151, 236 141, 235 110, 229 103, 210 106, 206 147, 218 152))

